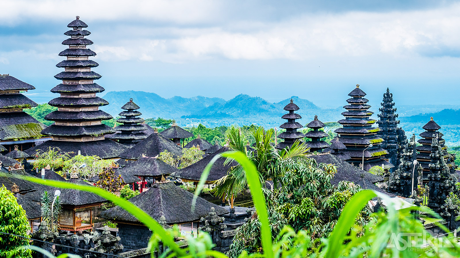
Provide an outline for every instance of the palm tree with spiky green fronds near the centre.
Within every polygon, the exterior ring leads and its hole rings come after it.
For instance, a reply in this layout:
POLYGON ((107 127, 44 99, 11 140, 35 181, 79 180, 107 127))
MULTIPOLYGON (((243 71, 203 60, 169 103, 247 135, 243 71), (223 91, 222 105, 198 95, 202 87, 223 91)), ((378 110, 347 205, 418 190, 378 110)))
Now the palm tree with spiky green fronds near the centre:
MULTIPOLYGON (((248 159, 253 162, 259 172, 258 176, 262 185, 264 185, 265 181, 271 180, 276 188, 283 174, 283 169, 280 168, 279 162, 288 159, 306 158, 309 150, 305 143, 300 143, 299 141, 295 142, 290 149, 276 150, 274 140, 272 140, 275 134, 274 129, 265 131, 265 129, 259 127, 252 129, 251 133, 255 139, 254 151, 247 150, 246 139, 240 130, 230 130, 228 144, 232 151, 245 153, 248 159)), ((232 159, 227 158, 224 164, 229 164, 230 162, 232 162, 232 159)), ((235 196, 247 188, 246 173, 241 165, 237 165, 231 167, 226 176, 213 183, 216 184, 213 190, 214 193, 222 198, 223 201, 228 196, 230 198, 230 208, 233 208, 235 196)))

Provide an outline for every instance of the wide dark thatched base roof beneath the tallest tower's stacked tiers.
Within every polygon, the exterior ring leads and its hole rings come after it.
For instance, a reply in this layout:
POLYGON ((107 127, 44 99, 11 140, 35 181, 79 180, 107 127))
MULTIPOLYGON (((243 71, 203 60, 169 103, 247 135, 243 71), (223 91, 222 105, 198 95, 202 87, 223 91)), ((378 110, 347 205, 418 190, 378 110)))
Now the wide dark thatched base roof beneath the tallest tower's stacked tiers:
POLYGON ((58 147, 61 151, 70 152, 70 156, 77 155, 78 151, 81 151, 81 155, 84 156, 93 156, 96 155, 100 158, 116 158, 119 157, 120 153, 127 150, 127 146, 119 144, 113 140, 95 140, 95 141, 78 141, 78 142, 69 142, 69 141, 59 141, 59 140, 48 140, 44 143, 32 147, 24 152, 33 156, 37 150, 47 151, 49 147, 58 147))

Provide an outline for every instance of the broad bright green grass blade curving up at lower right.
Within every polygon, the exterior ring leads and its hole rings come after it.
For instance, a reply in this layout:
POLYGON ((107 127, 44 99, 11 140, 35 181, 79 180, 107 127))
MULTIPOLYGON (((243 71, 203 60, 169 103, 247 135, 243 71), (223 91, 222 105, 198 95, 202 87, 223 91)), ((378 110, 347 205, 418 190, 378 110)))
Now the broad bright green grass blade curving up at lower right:
MULTIPOLYGON (((251 189, 252 190, 252 189, 251 189)), ((358 213, 366 206, 369 200, 377 196, 374 191, 363 190, 357 192, 351 200, 345 205, 334 230, 331 233, 328 241, 328 250, 326 251, 326 258, 337 258, 341 253, 342 243, 350 231, 358 213)))

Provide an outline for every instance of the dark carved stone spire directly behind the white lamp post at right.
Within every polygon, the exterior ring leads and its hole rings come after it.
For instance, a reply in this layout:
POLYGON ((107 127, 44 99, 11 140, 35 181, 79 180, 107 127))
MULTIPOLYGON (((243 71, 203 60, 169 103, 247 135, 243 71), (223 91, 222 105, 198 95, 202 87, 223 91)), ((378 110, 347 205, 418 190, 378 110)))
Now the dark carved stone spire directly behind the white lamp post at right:
POLYGON ((417 189, 418 176, 422 172, 420 164, 414 164, 415 160, 415 135, 410 142, 401 150, 401 160, 398 162, 398 168, 390 174, 388 182, 388 191, 398 196, 410 197, 414 190, 417 189), (415 167, 414 167, 415 166, 415 167), (414 183, 412 183, 414 182, 414 183))

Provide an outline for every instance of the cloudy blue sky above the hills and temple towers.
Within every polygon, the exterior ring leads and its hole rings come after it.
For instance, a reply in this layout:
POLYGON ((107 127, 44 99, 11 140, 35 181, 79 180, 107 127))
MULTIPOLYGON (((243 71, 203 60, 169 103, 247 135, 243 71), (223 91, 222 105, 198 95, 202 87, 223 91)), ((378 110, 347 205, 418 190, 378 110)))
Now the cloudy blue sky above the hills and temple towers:
POLYGON ((0 73, 33 84, 53 76, 66 25, 80 16, 107 91, 163 97, 291 95, 342 106, 361 84, 371 105, 460 104, 460 3, 396 0, 2 0, 0 73))

